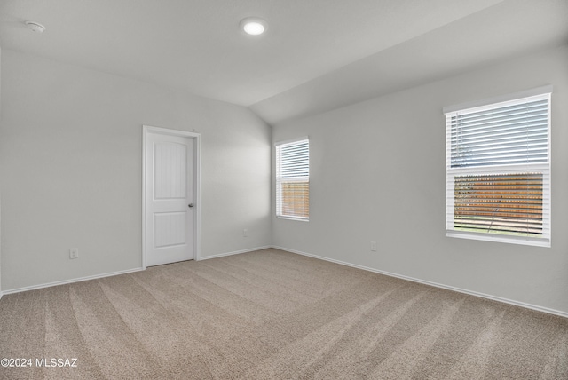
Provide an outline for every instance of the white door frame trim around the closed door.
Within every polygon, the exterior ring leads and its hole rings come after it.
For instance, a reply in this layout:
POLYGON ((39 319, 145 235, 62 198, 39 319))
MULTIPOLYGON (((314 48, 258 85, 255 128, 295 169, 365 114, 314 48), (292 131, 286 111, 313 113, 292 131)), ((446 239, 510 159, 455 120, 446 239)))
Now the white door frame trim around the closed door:
POLYGON ((142 268, 146 269, 146 141, 149 133, 193 139, 193 252, 201 259, 201 133, 142 125, 142 268))

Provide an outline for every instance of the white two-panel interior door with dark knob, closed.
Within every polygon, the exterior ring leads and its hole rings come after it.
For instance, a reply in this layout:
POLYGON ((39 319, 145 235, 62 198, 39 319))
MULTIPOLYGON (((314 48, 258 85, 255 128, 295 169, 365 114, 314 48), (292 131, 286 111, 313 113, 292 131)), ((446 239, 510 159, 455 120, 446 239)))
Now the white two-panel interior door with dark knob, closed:
POLYGON ((193 259, 193 139, 146 133, 146 265, 193 259))

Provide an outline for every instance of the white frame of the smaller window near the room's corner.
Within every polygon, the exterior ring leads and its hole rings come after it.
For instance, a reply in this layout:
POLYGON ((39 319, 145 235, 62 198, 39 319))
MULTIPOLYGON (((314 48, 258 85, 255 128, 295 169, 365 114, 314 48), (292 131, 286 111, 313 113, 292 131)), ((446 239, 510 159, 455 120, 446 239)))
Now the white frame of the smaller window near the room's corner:
POLYGON ((308 136, 304 136, 304 137, 300 137, 297 139, 288 139, 288 140, 283 140, 283 141, 278 141, 276 143, 274 143, 274 157, 275 157, 275 196, 274 196, 274 201, 275 201, 275 215, 276 218, 279 219, 289 219, 289 220, 298 220, 298 221, 303 221, 303 222, 309 222, 310 221, 310 138, 308 136), (280 172, 281 172, 281 168, 280 168, 280 162, 281 162, 281 157, 279 156, 280 154, 280 148, 284 147, 284 146, 295 146, 295 145, 301 145, 307 142, 307 175, 304 176, 300 176, 300 177, 296 177, 296 178, 282 178, 280 177, 280 172), (308 194, 308 208, 307 208, 307 217, 303 217, 303 216, 299 216, 299 215, 284 215, 282 212, 282 200, 281 200, 281 186, 284 183, 307 183, 308 185, 308 190, 307 190, 307 194, 308 194))

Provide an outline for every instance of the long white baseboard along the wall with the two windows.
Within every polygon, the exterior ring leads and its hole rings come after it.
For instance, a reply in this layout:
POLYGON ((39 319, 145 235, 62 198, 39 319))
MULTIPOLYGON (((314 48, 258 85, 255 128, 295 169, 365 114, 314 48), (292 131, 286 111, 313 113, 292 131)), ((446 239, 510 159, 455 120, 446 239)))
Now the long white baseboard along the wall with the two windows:
POLYGON ((288 248, 277 247, 277 246, 272 246, 272 248, 285 250, 287 252, 296 253, 296 254, 302 255, 302 256, 318 258, 319 260, 325 260, 325 261, 329 261, 329 262, 335 263, 335 264, 347 265, 347 266, 351 266, 353 268, 363 269, 363 270, 368 271, 368 272, 384 274, 386 276, 396 277, 398 279, 402 279, 402 280, 406 280, 406 281, 418 282, 418 283, 421 283, 421 284, 424 284, 424 285, 430 285, 430 286, 433 286, 433 287, 436 287, 436 288, 457 291, 459 293, 468 294, 469 296, 487 298, 487 299, 491 299, 493 301, 502 302, 504 304, 521 306, 521 307, 525 307, 526 309, 532 309, 532 310, 536 310, 538 312, 554 314, 554 315, 558 315, 558 316, 561 316, 561 317, 564 317, 564 318, 568 318, 568 313, 562 312, 560 310, 549 309, 548 307, 543 307, 543 306, 539 306, 539 305, 532 305, 532 304, 525 304, 525 302, 515 301, 515 300, 509 299, 509 298, 492 296, 492 295, 489 295, 489 294, 479 293, 477 291, 468 290, 468 289, 455 288, 453 286, 439 284, 437 282, 415 279, 413 277, 408 277, 408 276, 405 276, 405 275, 402 275, 402 274, 385 272, 385 271, 381 271, 381 270, 378 270, 378 269, 369 268, 369 267, 363 266, 363 265, 346 263, 344 261, 335 260, 333 258, 328 258, 328 257, 323 257, 323 256, 318 256, 318 255, 312 255, 311 253, 305 253, 305 252, 302 252, 302 251, 299 251, 299 250, 296 250, 296 249, 288 249, 288 248))

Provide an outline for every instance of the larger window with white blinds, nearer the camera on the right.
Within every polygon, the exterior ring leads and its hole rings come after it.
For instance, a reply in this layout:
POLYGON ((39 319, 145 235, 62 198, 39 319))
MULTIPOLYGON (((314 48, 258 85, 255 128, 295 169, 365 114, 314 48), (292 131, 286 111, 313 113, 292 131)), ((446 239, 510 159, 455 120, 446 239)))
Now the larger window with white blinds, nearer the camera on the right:
POLYGON ((446 236, 550 246, 550 90, 444 109, 446 236))

